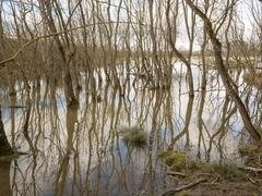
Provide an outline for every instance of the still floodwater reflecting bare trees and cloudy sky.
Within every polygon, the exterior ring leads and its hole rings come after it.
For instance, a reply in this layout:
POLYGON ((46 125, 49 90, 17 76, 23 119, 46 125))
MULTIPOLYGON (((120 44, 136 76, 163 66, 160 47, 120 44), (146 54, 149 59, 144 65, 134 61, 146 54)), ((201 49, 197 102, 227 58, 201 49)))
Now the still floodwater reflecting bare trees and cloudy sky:
MULTIPOLYGON (((259 123, 261 106, 253 100, 261 100, 261 91, 248 87, 241 73, 235 75, 240 93, 249 93, 241 97, 253 122, 259 123)), ((240 162, 237 146, 246 142, 247 135, 233 102, 226 101, 216 71, 209 71, 204 97, 198 68, 193 76, 195 96, 189 132, 175 149, 187 150, 193 158, 240 162), (223 119, 225 108, 230 120, 223 119)), ((0 166, 0 195, 159 195, 170 182, 157 154, 167 149, 186 126, 190 109, 187 77, 183 69, 176 70, 170 89, 143 88, 143 81, 133 85, 132 77, 121 78, 121 94, 97 79, 94 94, 83 73, 78 108, 68 108, 62 87, 53 89, 45 81, 40 87, 32 87, 29 95, 17 84, 16 97, 9 97, 3 86, 7 136, 13 148, 27 155, 0 166), (119 135, 119 128, 134 125, 147 133, 145 147, 128 145, 119 135)))

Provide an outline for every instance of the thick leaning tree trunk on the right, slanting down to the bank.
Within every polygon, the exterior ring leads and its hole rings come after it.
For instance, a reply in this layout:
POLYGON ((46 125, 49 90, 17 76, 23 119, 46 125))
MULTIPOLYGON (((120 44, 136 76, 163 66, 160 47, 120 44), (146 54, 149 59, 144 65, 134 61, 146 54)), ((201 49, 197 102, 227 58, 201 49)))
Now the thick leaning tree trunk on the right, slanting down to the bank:
POLYGON ((236 86, 236 85, 233 84, 233 79, 230 78, 230 76, 227 72, 227 69, 224 64, 223 54, 222 54, 222 42, 216 37, 216 33, 214 32, 214 29, 212 27, 212 23, 211 23, 210 19, 198 7, 195 7, 191 0, 186 0, 186 2, 192 9, 192 11, 195 12, 205 23, 207 34, 213 44, 215 64, 217 66, 217 70, 218 70, 222 81, 224 83, 224 86, 226 87, 227 94, 230 96, 230 98, 234 100, 234 102, 236 103, 236 106, 238 108, 238 111, 239 111, 241 119, 243 121, 243 124, 245 124, 245 128, 249 132, 250 136, 255 142, 261 143, 260 132, 258 130, 255 130, 255 127, 253 126, 251 119, 249 117, 249 113, 248 113, 241 98, 239 97, 238 93, 234 88, 234 86, 236 86))

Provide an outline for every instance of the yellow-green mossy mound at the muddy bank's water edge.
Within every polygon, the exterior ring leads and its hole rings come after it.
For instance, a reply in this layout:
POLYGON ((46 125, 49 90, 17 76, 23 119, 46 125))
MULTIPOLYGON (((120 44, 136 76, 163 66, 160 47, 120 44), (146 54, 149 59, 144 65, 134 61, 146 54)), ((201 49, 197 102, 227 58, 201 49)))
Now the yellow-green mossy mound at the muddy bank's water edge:
POLYGON ((184 152, 168 150, 160 152, 158 157, 172 171, 180 171, 187 168, 187 155, 184 152))

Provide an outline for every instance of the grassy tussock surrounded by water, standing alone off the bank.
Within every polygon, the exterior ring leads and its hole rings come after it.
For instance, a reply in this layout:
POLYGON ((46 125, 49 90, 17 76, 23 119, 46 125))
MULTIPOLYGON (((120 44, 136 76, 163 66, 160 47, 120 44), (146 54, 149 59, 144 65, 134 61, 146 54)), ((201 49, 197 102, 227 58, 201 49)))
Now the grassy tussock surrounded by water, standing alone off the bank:
POLYGON ((146 132, 138 125, 120 128, 119 135, 127 145, 143 147, 147 144, 146 132))

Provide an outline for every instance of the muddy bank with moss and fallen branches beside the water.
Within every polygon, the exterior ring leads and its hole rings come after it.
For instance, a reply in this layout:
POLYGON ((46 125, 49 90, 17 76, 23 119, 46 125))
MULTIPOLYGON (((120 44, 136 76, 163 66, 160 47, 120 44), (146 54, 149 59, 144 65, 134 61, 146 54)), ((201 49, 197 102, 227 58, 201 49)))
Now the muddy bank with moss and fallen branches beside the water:
POLYGON ((162 196, 259 196, 262 195, 262 164, 238 167, 191 160, 184 152, 164 151, 167 187, 162 196))

